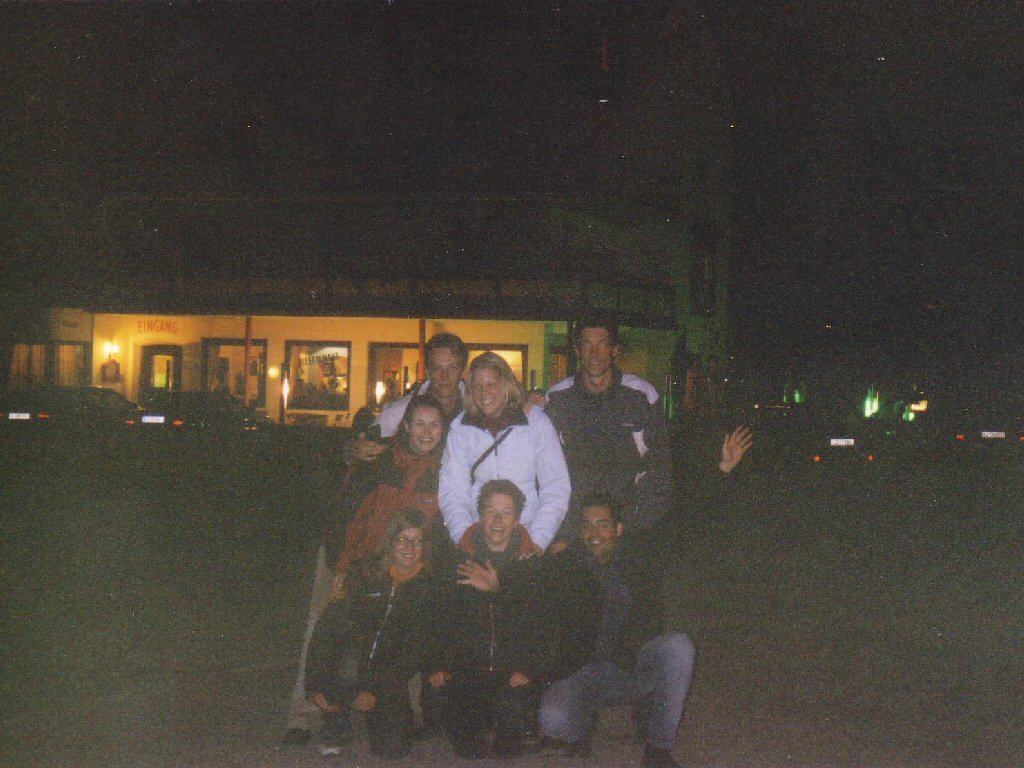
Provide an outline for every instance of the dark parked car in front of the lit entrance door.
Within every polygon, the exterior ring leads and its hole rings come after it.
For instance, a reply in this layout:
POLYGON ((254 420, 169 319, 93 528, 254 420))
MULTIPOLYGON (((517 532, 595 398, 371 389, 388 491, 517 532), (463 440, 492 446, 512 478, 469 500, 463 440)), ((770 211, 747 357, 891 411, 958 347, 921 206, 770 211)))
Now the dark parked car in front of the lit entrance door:
POLYGON ((170 430, 255 432, 273 426, 266 414, 220 392, 160 391, 146 400, 144 427, 170 430))

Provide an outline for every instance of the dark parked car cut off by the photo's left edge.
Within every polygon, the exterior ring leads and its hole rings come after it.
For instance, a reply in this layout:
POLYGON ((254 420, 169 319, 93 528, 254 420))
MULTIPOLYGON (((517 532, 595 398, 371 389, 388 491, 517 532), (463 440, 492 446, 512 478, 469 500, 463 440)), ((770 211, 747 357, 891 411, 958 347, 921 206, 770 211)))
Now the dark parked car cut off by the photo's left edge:
POLYGON ((0 398, 7 426, 110 430, 139 423, 141 409, 120 392, 98 386, 44 386, 13 390, 0 398))

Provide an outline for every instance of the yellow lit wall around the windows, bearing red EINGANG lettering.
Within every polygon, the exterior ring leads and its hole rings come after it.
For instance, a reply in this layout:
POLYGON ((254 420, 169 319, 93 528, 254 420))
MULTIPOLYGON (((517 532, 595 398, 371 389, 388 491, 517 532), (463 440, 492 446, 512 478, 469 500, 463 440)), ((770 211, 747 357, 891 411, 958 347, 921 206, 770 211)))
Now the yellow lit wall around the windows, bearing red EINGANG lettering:
MULTIPOLYGON (((503 354, 513 370, 522 373, 523 383, 538 386, 554 383, 555 372, 546 370, 545 343, 564 349, 565 324, 542 321, 480 321, 480 319, 428 319, 426 338, 440 332, 454 333, 472 345, 471 355, 478 354, 489 345, 503 347, 503 354), (511 348, 511 349, 510 349, 511 348), (521 348, 522 351, 519 351, 521 348), (514 351, 513 351, 514 350, 514 351)), ((140 374, 146 348, 158 350, 161 365, 166 365, 167 349, 180 349, 180 385, 194 390, 203 386, 204 340, 228 340, 241 344, 246 334, 244 315, 175 315, 175 314, 91 314, 77 309, 54 310, 51 333, 57 342, 91 343, 92 380, 123 392, 133 400, 139 399, 140 374), (103 380, 104 368, 110 371, 110 359, 117 361, 119 375, 114 380, 103 380), (105 366, 104 366, 105 364, 105 366)), ((305 414, 313 423, 329 426, 347 426, 352 416, 367 404, 368 393, 376 382, 369 381, 369 352, 371 344, 396 344, 415 346, 419 342, 419 319, 415 317, 297 317, 254 315, 252 317, 253 354, 262 355, 265 348, 265 367, 260 378, 265 382, 265 409, 273 418, 280 417, 280 398, 284 370, 285 346, 288 342, 342 342, 351 345, 348 359, 349 401, 346 411, 313 412, 305 414)), ((647 378, 663 395, 667 394, 674 334, 648 329, 624 328, 621 333, 622 352, 618 365, 624 371, 647 378)), ((233 359, 238 348, 219 354, 233 359)), ((551 350, 547 350, 550 352, 551 350)), ((156 354, 156 352, 154 352, 156 354)), ((410 376, 415 380, 415 359, 418 355, 402 352, 402 366, 412 362, 410 376)), ((262 357, 261 357, 262 359, 262 357)), ((232 364, 233 366, 233 364, 232 364)), ((251 372, 250 372, 251 373, 251 372)), ((163 379, 159 372, 152 374, 155 381, 163 379)), ((256 392, 251 389, 251 395, 256 392)), ((297 419, 303 413, 289 410, 297 419)))

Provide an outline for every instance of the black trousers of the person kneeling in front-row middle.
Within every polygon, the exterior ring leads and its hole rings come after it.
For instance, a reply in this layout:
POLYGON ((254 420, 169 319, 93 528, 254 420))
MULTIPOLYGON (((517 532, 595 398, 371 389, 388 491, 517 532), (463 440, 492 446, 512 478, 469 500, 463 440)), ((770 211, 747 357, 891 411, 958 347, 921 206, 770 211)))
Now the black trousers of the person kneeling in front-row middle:
POLYGON ((512 688, 509 674, 457 673, 446 685, 430 689, 430 707, 459 757, 485 757, 492 729, 496 753, 512 756, 522 751, 523 734, 536 720, 540 690, 535 684, 512 688))

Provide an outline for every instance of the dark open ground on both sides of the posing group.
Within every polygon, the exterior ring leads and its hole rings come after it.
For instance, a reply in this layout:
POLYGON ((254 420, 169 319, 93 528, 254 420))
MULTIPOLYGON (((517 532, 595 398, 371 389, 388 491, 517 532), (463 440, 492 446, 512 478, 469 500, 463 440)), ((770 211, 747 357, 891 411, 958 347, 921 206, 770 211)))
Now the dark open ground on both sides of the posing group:
MULTIPOLYGON (((6 435, 0 451, 0 765, 380 764, 279 745, 331 443, 6 435)), ((1022 468, 762 458, 688 483, 669 624, 699 659, 677 757, 1024 763, 1022 468)), ((637 763, 622 713, 606 724, 590 764, 637 763)), ((397 765, 460 762, 433 740, 397 765)))

